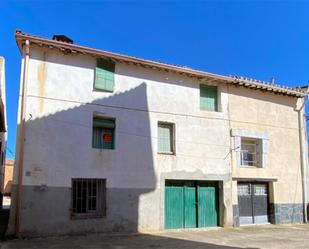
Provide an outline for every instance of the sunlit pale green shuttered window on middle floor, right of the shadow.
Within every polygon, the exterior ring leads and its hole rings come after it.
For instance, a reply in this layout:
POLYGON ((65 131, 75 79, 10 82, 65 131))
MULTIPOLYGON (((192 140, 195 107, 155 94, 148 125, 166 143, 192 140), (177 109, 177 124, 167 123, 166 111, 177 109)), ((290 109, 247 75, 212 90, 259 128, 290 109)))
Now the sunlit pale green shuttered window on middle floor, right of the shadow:
POLYGON ((158 153, 175 153, 174 124, 158 123, 158 153))

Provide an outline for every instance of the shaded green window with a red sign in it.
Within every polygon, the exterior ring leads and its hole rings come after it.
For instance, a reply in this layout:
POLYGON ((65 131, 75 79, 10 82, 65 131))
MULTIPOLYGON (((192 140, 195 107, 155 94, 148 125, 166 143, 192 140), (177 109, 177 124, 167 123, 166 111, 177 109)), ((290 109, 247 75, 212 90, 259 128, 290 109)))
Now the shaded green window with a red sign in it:
POLYGON ((93 118, 92 148, 115 149, 115 120, 109 118, 93 118))

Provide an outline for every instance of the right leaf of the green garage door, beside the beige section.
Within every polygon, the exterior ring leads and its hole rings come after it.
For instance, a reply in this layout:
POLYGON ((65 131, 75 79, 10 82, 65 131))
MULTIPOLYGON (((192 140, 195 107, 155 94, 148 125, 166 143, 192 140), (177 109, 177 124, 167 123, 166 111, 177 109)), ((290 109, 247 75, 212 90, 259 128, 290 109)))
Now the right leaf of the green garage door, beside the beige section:
POLYGON ((213 227, 219 223, 218 187, 215 183, 198 185, 198 227, 213 227))

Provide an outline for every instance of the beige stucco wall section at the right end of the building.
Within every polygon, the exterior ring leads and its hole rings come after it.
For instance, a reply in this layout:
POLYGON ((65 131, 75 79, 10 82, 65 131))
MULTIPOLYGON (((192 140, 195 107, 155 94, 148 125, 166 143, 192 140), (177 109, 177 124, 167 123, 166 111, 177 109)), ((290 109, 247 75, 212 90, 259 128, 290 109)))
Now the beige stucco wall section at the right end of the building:
MULTIPOLYGON (((234 178, 272 178, 270 201, 301 203, 302 178, 298 112, 301 100, 246 88, 229 87, 231 129, 260 132, 269 136, 267 163, 263 168, 237 166, 232 152, 234 178)), ((232 149, 235 147, 231 138, 232 149)), ((233 181, 233 204, 237 204, 237 182, 233 181)))

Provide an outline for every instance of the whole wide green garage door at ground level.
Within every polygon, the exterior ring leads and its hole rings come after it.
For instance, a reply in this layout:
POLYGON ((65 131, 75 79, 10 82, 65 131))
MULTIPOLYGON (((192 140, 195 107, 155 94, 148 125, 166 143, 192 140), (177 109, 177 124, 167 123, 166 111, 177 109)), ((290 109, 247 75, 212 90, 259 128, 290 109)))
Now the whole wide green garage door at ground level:
POLYGON ((201 181, 167 181, 165 228, 218 225, 218 184, 201 181))

